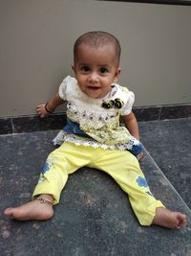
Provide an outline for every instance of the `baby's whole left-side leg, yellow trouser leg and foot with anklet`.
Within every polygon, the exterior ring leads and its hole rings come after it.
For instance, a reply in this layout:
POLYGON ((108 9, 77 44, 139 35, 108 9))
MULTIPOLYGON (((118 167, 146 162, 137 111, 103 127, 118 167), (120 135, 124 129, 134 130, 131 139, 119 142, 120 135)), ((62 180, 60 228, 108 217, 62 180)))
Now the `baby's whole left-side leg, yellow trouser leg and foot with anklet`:
POLYGON ((68 172, 74 173, 88 161, 86 147, 75 146, 72 143, 62 144, 49 155, 33 192, 33 198, 41 195, 40 198, 45 201, 34 199, 18 207, 7 208, 4 214, 18 221, 51 219, 53 204, 59 202, 60 193, 68 179, 68 172))

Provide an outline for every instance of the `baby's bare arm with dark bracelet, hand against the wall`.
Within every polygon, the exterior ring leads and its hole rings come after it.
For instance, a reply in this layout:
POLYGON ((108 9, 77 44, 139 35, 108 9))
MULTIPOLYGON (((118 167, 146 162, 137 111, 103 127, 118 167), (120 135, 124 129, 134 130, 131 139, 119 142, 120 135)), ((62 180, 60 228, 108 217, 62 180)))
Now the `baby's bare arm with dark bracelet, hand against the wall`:
POLYGON ((63 103, 64 101, 60 98, 59 94, 56 93, 47 104, 38 105, 36 107, 36 112, 41 118, 43 118, 48 116, 50 113, 53 113, 54 109, 63 103))

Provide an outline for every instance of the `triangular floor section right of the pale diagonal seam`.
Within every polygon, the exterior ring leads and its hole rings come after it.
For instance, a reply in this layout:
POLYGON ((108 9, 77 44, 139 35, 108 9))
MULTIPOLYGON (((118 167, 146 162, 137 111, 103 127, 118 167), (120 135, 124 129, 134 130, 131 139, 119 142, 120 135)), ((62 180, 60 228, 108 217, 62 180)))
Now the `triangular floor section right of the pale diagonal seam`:
POLYGON ((191 118, 140 122, 144 147, 191 209, 191 118))

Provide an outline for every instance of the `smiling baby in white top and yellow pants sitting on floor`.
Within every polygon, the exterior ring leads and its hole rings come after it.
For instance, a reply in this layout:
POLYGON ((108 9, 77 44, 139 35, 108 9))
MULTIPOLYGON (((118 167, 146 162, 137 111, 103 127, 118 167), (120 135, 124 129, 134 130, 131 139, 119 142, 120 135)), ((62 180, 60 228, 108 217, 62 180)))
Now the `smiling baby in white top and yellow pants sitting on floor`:
POLYGON ((5 215, 18 221, 51 219, 68 175, 88 166, 117 181, 141 225, 185 225, 184 214, 167 210, 152 195, 140 170, 138 122, 132 112, 134 93, 117 84, 119 58, 120 44, 114 35, 89 32, 77 38, 75 78, 65 78, 53 99, 36 109, 43 118, 67 102, 67 125, 53 140, 60 147, 48 156, 32 201, 7 208, 5 215), (120 125, 120 117, 125 127, 120 125))

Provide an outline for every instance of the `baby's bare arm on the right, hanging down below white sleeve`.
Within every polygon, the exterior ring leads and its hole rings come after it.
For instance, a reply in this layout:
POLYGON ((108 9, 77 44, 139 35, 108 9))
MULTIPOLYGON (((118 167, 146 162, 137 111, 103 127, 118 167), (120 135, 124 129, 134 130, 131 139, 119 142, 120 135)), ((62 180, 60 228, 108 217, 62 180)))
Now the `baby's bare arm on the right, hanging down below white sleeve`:
POLYGON ((138 121, 133 112, 128 115, 122 116, 122 121, 129 132, 139 140, 138 121))

